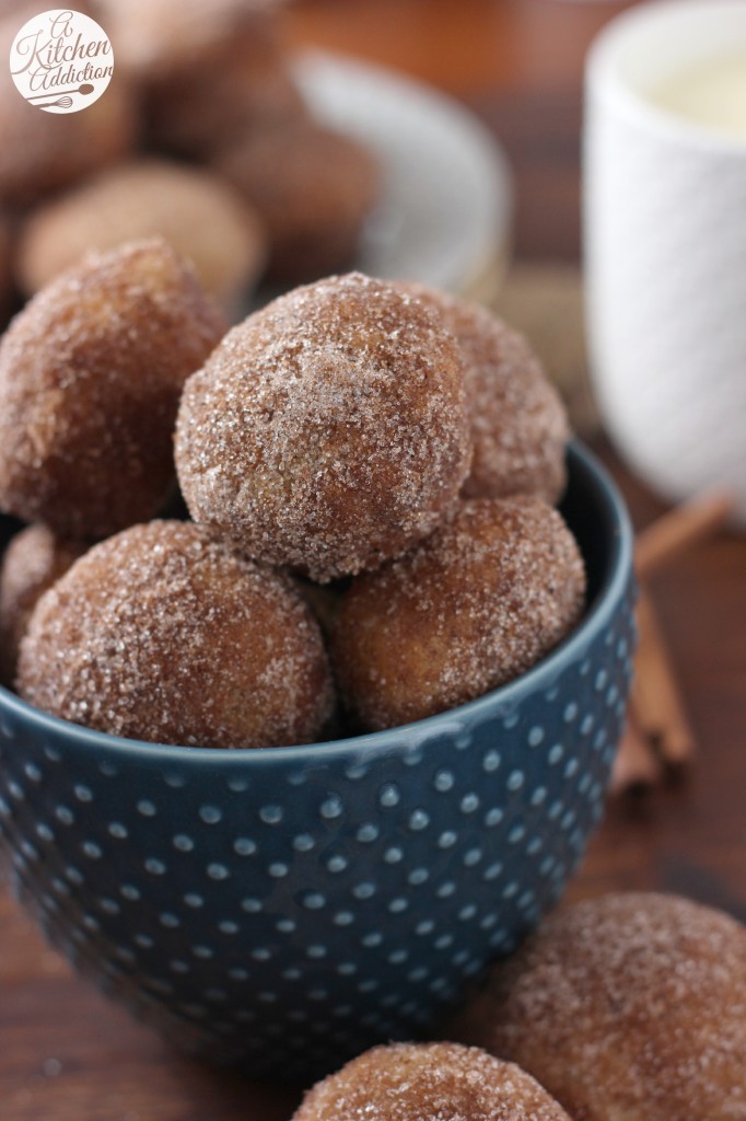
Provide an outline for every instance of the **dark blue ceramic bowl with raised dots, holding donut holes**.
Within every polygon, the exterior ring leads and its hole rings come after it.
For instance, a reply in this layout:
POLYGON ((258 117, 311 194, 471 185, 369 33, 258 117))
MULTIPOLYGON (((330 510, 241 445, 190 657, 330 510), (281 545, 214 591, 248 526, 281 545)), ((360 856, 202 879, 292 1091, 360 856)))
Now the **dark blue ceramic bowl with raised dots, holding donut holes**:
POLYGON ((427 1035, 560 897, 602 815, 632 536, 582 447, 577 630, 463 707, 300 748, 138 743, 0 691, 0 828, 49 941, 181 1048, 308 1082, 427 1035))

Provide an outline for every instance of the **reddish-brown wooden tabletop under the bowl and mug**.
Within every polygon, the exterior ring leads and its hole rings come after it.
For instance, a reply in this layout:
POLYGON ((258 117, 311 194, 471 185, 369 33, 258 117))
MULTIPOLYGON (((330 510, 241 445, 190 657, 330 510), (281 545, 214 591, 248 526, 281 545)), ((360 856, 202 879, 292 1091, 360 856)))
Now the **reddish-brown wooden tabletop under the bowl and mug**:
MULTIPOLYGON (((399 66, 495 129, 519 185, 516 253, 576 259, 581 59, 619 3, 307 0, 296 44, 399 66)), ((602 448, 637 526, 661 506, 602 448)), ((699 741, 679 786, 609 806, 574 898, 680 891, 746 919, 746 538, 682 558, 653 593, 699 741)), ((2 1121, 282 1121, 297 1092, 260 1088, 170 1053, 45 948, 0 887, 2 1121)))

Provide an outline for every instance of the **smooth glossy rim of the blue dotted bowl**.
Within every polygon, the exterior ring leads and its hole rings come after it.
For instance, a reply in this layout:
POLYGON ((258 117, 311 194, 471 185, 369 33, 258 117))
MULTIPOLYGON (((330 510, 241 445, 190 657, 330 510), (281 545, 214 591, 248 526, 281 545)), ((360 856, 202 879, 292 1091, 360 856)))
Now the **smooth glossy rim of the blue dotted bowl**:
MULTIPOLYGON (((246 768, 263 768, 268 762, 277 763, 320 763, 333 761, 345 753, 363 752, 367 754, 390 754, 401 751, 412 743, 429 739, 433 734, 444 734, 449 724, 459 724, 478 719, 483 711, 498 710, 510 712, 529 693, 551 687, 560 668, 567 661, 580 656, 591 638, 608 624, 616 605, 626 592, 633 572, 633 530, 622 494, 598 457, 580 441, 574 438, 568 444, 568 460, 579 466, 593 482, 602 504, 610 516, 613 531, 610 535, 610 559, 602 586, 590 610, 584 615, 578 627, 524 674, 507 682, 505 685, 485 693, 474 701, 448 708, 445 712, 427 716, 425 720, 380 732, 366 732, 361 735, 345 736, 339 740, 328 740, 318 743, 301 743, 292 747, 277 748, 201 748, 169 743, 153 743, 144 740, 130 740, 109 732, 74 724, 72 721, 53 716, 40 708, 22 701, 15 693, 0 686, 0 719, 3 712, 10 712, 27 724, 34 724, 41 734, 50 734, 55 740, 63 738, 76 750, 91 752, 111 751, 122 757, 129 756, 152 767, 158 762, 181 765, 209 765, 215 768, 240 766, 246 768), (439 726, 440 725, 440 726, 439 726)), ((453 732, 453 728, 450 729, 453 732)))

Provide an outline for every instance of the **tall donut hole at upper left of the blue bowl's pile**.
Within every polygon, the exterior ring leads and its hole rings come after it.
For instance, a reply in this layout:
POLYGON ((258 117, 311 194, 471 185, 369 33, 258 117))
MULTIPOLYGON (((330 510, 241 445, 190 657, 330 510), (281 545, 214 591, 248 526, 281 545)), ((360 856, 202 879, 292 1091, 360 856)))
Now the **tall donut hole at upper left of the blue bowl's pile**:
POLYGON ((158 239, 54 280, 0 343, 0 508, 74 540, 151 517, 181 387, 224 326, 158 239))

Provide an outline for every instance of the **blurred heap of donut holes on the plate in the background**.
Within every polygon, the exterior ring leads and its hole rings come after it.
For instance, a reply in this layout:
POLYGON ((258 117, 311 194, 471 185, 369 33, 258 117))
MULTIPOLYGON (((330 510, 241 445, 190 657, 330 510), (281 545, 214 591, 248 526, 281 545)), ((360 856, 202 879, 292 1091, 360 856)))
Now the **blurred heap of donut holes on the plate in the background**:
MULTIPOLYGON (((264 277, 349 267, 379 194, 371 152, 313 117, 277 0, 81 0, 114 73, 83 112, 0 89, 0 314, 86 250, 161 235, 229 314, 264 277)), ((35 0, 0 15, 11 43, 35 0)), ((77 94, 76 94, 77 95, 77 94)))

